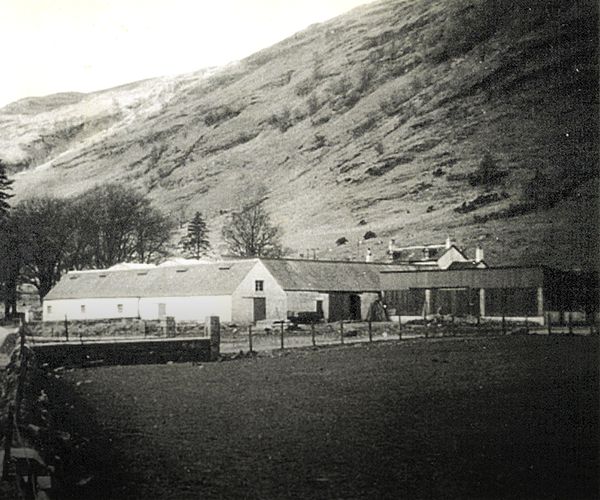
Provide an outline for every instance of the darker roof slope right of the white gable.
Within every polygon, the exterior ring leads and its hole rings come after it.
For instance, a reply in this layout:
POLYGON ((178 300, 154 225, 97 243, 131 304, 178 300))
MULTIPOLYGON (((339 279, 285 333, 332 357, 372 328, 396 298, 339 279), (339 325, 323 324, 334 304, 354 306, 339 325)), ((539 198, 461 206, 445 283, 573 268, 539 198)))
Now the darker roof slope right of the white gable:
POLYGON ((284 290, 320 292, 368 292, 381 290, 382 268, 401 270, 403 266, 366 262, 261 259, 284 290))

